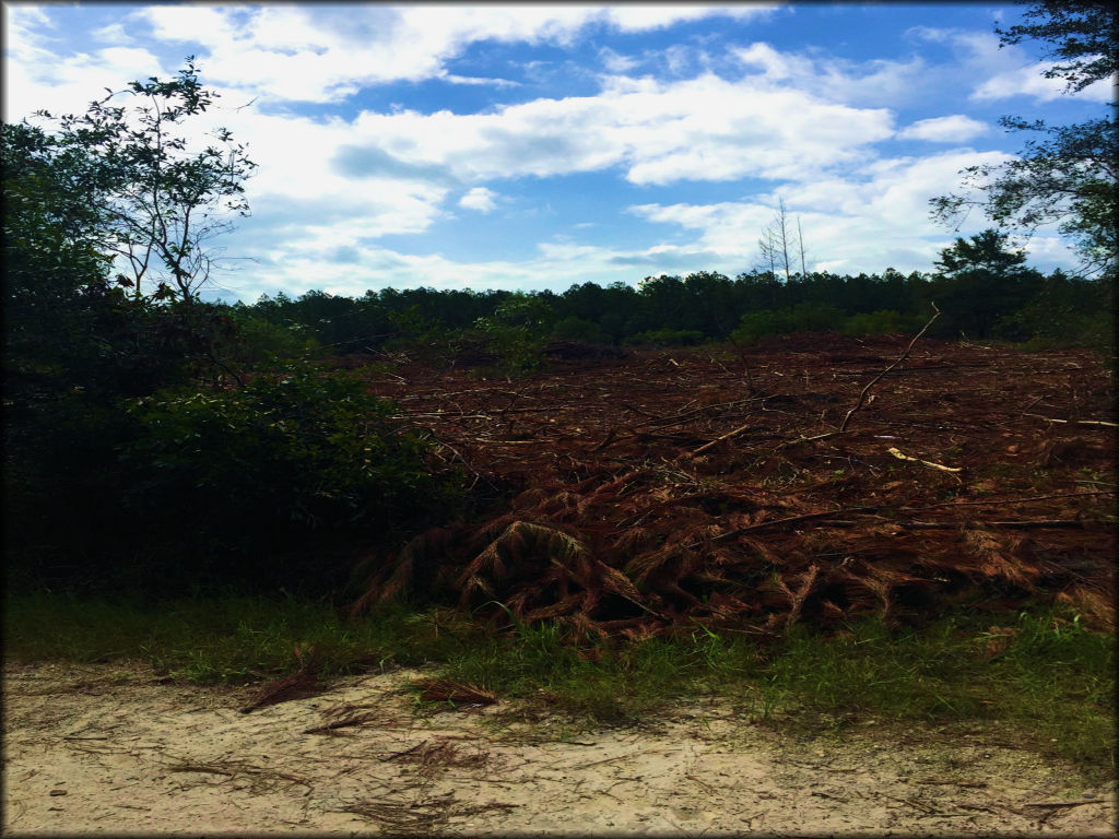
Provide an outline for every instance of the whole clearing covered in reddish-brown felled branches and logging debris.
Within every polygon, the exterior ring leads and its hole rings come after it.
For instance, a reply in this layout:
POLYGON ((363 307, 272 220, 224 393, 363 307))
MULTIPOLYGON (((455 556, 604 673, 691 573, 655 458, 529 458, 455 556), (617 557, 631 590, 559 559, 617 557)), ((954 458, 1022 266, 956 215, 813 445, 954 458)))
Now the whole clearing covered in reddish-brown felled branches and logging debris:
POLYGON ((1099 357, 923 340, 836 433, 906 343, 788 336, 513 380, 370 368, 369 387, 499 501, 370 557, 355 609, 411 591, 587 639, 1051 596, 1113 628, 1099 357))

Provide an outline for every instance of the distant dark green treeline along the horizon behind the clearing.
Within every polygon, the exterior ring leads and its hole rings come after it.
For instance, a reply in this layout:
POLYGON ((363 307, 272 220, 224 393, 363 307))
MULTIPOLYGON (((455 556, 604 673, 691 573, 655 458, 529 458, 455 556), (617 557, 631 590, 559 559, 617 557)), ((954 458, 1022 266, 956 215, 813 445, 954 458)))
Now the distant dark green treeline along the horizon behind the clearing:
POLYGON ((959 239, 942 254, 942 271, 932 274, 817 272, 784 282, 760 272, 733 280, 699 272, 648 277, 636 287, 584 283, 561 293, 421 287, 360 298, 321 291, 290 298, 281 292, 232 310, 262 347, 319 347, 346 355, 403 346, 434 352, 467 339, 501 345, 509 342, 509 330, 520 330, 526 340, 615 347, 745 343, 788 332, 911 332, 928 320, 934 303, 942 312, 933 328, 937 337, 1109 352, 1113 282, 1060 270, 1043 274, 1025 267, 1024 257, 1005 245, 994 230, 959 239))

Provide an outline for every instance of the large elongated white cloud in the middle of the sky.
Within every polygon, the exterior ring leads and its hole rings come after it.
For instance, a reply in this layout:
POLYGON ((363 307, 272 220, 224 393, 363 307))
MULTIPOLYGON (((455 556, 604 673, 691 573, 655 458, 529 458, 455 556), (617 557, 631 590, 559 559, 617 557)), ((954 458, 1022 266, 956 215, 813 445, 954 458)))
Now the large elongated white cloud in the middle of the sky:
POLYGON ((893 134, 887 111, 712 74, 670 83, 611 77, 598 96, 492 113, 365 112, 354 130, 356 143, 402 164, 445 167, 466 181, 621 166, 633 183, 808 177, 859 160, 893 134))

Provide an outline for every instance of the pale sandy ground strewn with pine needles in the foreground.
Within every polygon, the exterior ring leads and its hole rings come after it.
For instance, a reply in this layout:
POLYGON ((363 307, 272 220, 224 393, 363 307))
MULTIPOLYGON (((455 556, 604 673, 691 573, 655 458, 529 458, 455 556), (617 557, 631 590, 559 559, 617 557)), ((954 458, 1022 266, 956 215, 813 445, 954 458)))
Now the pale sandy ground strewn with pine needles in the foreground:
POLYGON ((1005 733, 791 737, 714 701, 576 732, 505 704, 417 716, 416 676, 243 714, 244 688, 8 664, 2 832, 1116 835, 1113 789, 1005 733))

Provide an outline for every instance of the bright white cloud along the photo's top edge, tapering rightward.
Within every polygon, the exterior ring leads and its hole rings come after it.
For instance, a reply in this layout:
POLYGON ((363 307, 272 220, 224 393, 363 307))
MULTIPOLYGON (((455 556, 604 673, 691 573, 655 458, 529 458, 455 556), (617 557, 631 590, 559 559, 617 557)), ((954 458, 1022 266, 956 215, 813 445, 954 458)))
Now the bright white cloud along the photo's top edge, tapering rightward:
POLYGON ((278 100, 336 102, 363 86, 448 75, 485 40, 570 44, 586 26, 643 31, 714 15, 764 17, 773 6, 151 6, 133 17, 156 38, 205 44, 208 74, 278 100))

